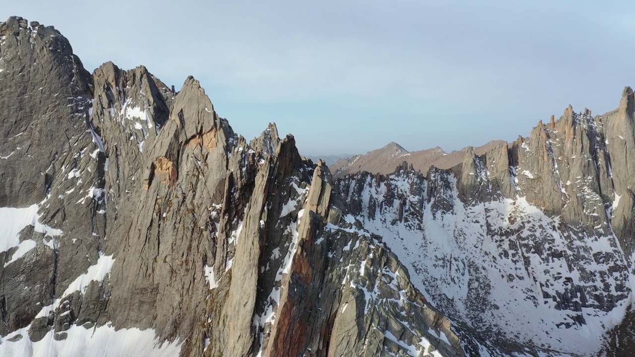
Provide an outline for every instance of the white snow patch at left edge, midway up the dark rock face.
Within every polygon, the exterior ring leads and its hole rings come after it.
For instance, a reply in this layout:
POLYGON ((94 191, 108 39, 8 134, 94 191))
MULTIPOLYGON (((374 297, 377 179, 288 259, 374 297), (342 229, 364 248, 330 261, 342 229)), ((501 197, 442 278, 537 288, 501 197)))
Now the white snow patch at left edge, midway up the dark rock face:
MULTIPOLYGON (((64 233, 61 229, 41 224, 37 210, 39 205, 23 208, 0 207, 0 253, 20 245, 20 231, 26 226, 33 226, 36 232, 44 233, 45 236, 61 236, 64 233)), ((22 255, 26 252, 28 251, 23 251, 22 255)))

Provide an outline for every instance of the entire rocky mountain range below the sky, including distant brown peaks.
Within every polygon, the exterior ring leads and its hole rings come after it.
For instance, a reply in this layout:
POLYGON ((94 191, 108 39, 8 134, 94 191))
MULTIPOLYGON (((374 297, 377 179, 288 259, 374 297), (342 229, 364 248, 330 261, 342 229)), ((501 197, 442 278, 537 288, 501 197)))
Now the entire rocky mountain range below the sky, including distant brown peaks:
POLYGON ((0 23, 0 356, 631 356, 635 95, 329 168, 0 23))

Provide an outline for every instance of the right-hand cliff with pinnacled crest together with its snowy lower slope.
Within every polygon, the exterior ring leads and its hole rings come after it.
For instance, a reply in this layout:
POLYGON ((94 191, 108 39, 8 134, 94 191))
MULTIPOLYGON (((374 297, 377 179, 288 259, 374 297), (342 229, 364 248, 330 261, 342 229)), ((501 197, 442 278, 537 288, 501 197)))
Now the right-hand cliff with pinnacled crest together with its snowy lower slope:
POLYGON ((336 191, 464 338, 499 353, 627 355, 633 100, 625 88, 616 111, 592 117, 568 107, 518 142, 467 150, 448 170, 360 172, 336 191))

